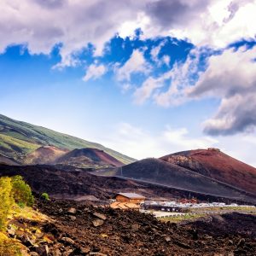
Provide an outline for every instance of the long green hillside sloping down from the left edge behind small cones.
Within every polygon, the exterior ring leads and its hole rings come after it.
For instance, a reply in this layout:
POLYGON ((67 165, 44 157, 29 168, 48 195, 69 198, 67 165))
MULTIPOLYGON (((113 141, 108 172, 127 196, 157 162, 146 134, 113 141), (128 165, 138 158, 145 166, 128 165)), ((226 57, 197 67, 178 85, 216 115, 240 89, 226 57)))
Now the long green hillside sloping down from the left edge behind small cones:
POLYGON ((75 148, 98 148, 124 164, 134 161, 131 157, 120 154, 110 148, 105 148, 101 144, 91 143, 38 125, 10 119, 0 114, 0 153, 19 160, 24 155, 44 145, 70 150, 75 148))

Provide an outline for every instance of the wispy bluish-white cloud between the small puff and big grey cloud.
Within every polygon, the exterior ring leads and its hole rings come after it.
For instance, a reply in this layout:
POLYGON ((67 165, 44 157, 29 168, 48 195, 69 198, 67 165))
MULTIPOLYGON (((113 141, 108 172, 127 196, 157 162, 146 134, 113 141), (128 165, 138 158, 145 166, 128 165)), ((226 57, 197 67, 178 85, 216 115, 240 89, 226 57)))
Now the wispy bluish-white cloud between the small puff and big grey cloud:
MULTIPOLYGON (((149 76, 135 90, 135 102, 143 104, 150 97, 153 97, 154 102, 162 107, 170 107, 186 102, 188 98, 184 90, 187 90, 191 84, 194 84, 196 80, 195 75, 201 73, 199 69, 201 55, 206 52, 207 49, 192 49, 185 62, 176 62, 171 70, 162 73, 157 78, 149 76), (163 90, 165 85, 167 90, 163 90)), ((165 58, 163 59, 165 60, 165 58)), ((167 61, 170 61, 170 59, 166 58, 167 61)))

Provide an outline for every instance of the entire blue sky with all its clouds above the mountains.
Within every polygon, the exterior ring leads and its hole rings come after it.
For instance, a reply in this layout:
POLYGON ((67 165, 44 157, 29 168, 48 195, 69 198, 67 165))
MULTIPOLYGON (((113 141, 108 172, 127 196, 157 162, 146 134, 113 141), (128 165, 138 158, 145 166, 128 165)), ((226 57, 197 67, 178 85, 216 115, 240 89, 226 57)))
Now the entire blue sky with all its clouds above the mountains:
POLYGON ((256 166, 255 1, 0 9, 0 113, 137 159, 216 147, 256 166))

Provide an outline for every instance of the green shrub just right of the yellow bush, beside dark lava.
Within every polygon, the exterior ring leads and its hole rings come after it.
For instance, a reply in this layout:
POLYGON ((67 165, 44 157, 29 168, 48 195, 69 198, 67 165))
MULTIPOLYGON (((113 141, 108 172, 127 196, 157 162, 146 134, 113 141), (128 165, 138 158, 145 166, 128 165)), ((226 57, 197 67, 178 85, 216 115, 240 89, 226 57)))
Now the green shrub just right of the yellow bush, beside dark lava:
POLYGON ((15 176, 11 178, 12 183, 12 196, 20 206, 31 207, 34 203, 34 197, 32 195, 32 190, 28 184, 20 176, 15 176))

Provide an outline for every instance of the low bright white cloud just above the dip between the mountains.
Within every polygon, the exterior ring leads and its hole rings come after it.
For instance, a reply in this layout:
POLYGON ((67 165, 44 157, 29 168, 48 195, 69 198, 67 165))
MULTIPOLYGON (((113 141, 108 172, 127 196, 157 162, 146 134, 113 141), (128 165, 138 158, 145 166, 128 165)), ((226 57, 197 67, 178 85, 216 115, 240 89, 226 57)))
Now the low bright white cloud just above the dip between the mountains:
POLYGON ((191 148, 212 147, 217 140, 211 137, 190 137, 185 128, 174 129, 166 126, 163 131, 152 134, 142 128, 122 123, 102 143, 136 159, 160 157, 191 148))

